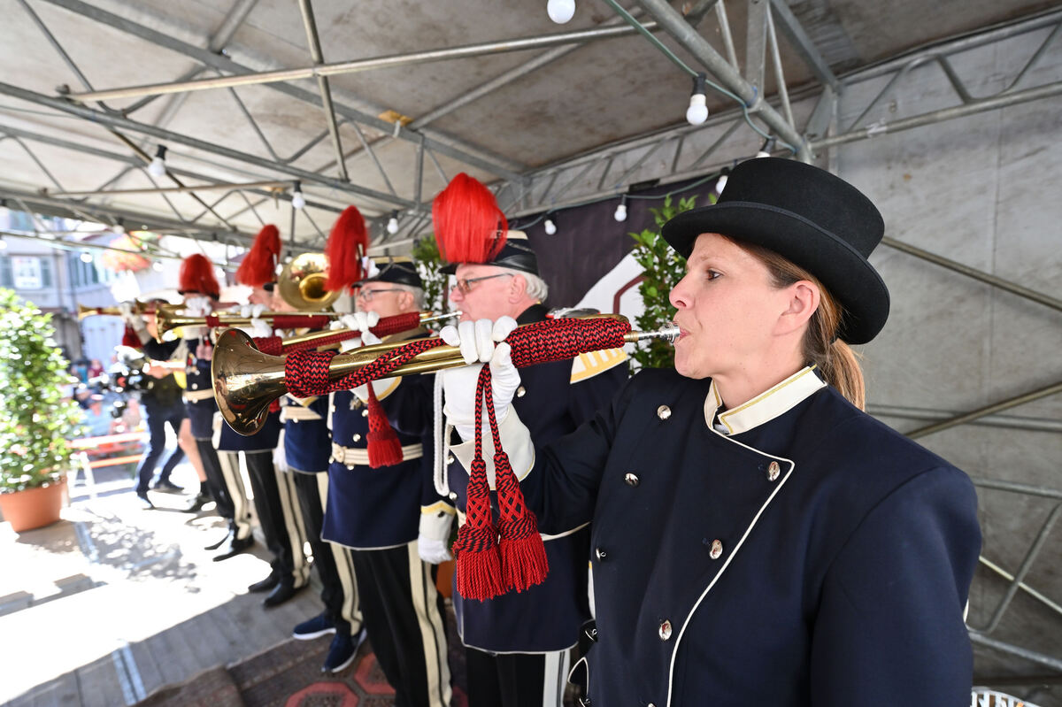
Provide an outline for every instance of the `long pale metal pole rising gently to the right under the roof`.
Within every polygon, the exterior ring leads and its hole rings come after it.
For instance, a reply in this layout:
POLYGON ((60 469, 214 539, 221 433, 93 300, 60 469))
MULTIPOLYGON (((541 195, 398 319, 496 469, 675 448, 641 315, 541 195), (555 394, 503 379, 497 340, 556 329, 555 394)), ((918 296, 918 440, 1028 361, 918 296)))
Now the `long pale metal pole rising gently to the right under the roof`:
POLYGON ((465 58, 469 56, 519 52, 528 49, 544 49, 548 47, 555 47, 558 45, 570 45, 573 42, 584 42, 595 39, 610 39, 612 37, 628 36, 636 31, 636 29, 628 25, 579 30, 576 32, 562 32, 560 34, 549 34, 536 37, 503 39, 501 41, 487 41, 477 45, 449 47, 445 49, 429 49, 421 52, 410 52, 407 54, 375 56, 364 59, 354 59, 350 62, 338 62, 336 64, 322 64, 320 66, 311 66, 301 69, 280 69, 277 71, 244 73, 235 76, 200 79, 196 81, 166 84, 144 84, 141 86, 110 88, 100 91, 82 91, 79 93, 69 93, 69 97, 78 101, 102 101, 117 98, 157 96, 160 93, 184 93, 186 91, 201 91, 213 88, 227 88, 230 86, 272 84, 278 82, 297 81, 299 79, 314 79, 319 76, 333 76, 344 73, 372 71, 375 69, 393 69, 395 67, 410 66, 413 64, 426 64, 446 59, 465 58))

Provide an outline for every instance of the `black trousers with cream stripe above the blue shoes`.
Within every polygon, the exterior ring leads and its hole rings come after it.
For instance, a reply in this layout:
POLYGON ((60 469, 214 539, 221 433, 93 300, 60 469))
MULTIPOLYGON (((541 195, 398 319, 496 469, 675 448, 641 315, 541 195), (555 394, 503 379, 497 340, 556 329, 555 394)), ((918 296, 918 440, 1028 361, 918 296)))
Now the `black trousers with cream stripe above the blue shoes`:
POLYGON ((336 623, 337 631, 343 630, 353 636, 361 631, 362 620, 352 551, 321 539, 325 501, 328 498, 328 473, 291 471, 287 476, 294 481, 298 494, 306 535, 313 550, 313 566, 318 568, 318 575, 321 577, 321 601, 325 604, 325 616, 336 623))

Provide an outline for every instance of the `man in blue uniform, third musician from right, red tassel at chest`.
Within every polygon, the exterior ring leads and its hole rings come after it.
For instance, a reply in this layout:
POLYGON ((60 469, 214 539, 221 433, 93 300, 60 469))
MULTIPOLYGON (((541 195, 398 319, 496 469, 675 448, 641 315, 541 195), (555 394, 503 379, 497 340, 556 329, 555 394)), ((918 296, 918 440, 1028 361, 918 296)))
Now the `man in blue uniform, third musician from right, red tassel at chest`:
MULTIPOLYGON (((356 288, 359 312, 343 323, 361 329, 365 344, 379 342, 369 332, 379 317, 424 305, 409 259, 381 262, 379 273, 356 288)), ((388 341, 426 333, 421 328, 388 341)), ((407 376, 332 394, 324 538, 352 549, 373 650, 395 689, 395 704, 406 707, 446 707, 451 697, 443 599, 435 568, 421 559, 417 544, 422 517, 438 523, 442 514, 447 527, 452 518, 431 483, 433 384, 431 375, 407 376), (380 464, 373 445, 375 435, 387 436, 379 432, 384 427, 396 439, 393 456, 380 464)), ((445 552, 445 545, 439 549, 445 552)))

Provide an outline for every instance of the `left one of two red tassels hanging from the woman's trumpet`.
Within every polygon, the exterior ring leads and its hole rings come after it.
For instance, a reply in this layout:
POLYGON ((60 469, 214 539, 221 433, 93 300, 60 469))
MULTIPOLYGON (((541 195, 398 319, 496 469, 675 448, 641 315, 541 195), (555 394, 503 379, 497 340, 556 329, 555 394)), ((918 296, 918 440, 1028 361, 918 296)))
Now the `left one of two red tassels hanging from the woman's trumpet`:
POLYGON ((498 532, 491 522, 491 496, 486 485, 486 463, 472 463, 465 523, 453 542, 457 589, 465 599, 486 601, 506 591, 501 582, 498 532))

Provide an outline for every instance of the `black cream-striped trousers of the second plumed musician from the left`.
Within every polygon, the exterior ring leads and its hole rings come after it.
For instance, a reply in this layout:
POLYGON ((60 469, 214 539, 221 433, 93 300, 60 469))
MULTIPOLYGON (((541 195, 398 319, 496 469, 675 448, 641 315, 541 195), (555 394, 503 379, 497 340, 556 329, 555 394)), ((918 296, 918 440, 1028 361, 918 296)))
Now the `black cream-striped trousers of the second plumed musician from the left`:
MULTIPOLYGON (((225 478, 239 479, 240 452, 219 451, 218 459, 225 478)), ((305 586, 310 580, 310 565, 303 551, 306 530, 298 504, 295 482, 291 475, 273 466, 273 450, 244 451, 243 459, 255 496, 255 513, 266 536, 266 547, 273 555, 270 565, 281 582, 305 586)))

